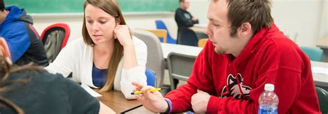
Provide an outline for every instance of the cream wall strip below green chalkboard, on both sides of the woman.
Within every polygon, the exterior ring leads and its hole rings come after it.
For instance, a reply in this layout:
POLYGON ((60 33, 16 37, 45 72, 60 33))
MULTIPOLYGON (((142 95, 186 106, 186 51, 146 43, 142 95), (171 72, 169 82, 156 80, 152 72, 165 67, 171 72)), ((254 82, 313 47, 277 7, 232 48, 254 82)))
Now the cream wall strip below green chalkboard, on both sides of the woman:
MULTIPOLYGON (((44 15, 44 14, 31 14, 34 21, 34 26, 39 34, 42 31, 54 23, 67 23, 71 28, 71 35, 69 41, 73 39, 82 38, 82 21, 83 14, 60 14, 60 15, 44 15)), ((174 21, 174 12, 163 12, 163 13, 123 13, 125 21, 130 28, 149 28, 156 29, 155 20, 161 19, 167 25, 170 30, 172 37, 176 37, 176 23, 174 21)))

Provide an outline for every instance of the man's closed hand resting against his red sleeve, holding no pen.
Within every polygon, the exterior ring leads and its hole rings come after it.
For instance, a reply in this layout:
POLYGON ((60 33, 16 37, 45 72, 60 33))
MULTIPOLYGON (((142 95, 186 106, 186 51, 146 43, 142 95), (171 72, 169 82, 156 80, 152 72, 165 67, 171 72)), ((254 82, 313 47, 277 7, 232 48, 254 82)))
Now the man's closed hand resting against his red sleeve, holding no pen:
POLYGON ((191 104, 194 113, 206 113, 209 100, 210 100, 210 95, 198 89, 197 93, 192 95, 191 104))

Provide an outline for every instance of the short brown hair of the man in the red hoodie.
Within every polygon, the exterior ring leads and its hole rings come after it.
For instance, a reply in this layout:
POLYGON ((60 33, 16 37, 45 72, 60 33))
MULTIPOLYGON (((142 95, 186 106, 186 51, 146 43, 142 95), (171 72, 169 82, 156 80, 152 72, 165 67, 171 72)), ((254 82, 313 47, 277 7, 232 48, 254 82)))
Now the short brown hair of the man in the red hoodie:
MULTIPOLYGON (((214 0, 217 2, 218 0, 214 0)), ((242 23, 249 22, 254 33, 264 27, 271 27, 270 0, 225 0, 228 3, 228 21, 231 23, 230 35, 235 37, 242 23)))

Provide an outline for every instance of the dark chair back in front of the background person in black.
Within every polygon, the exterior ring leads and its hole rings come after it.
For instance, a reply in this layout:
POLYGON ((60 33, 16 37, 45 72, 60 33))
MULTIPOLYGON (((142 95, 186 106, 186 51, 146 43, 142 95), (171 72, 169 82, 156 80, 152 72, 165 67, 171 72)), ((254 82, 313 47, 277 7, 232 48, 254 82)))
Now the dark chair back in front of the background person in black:
POLYGON ((188 28, 179 28, 178 39, 176 41, 176 44, 198 46, 197 42, 198 42, 198 38, 193 30, 190 30, 188 28))

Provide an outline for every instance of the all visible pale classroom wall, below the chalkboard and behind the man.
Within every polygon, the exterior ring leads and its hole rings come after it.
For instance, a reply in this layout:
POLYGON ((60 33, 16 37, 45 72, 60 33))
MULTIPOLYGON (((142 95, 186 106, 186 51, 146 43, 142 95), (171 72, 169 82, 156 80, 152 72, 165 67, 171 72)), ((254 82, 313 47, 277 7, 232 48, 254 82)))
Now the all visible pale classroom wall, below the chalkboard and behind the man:
MULTIPOLYGON (((207 10, 210 0, 190 0, 188 9, 200 23, 208 23, 207 10)), ((293 41, 302 46, 316 46, 316 42, 328 35, 327 0, 273 0, 272 15, 275 24, 293 41)), ((166 13, 123 13, 130 28, 156 28, 154 21, 162 19, 172 37, 176 38, 174 12, 166 13)), ((82 37, 82 14, 32 15, 35 28, 42 30, 53 23, 68 23, 71 39, 82 37)))

